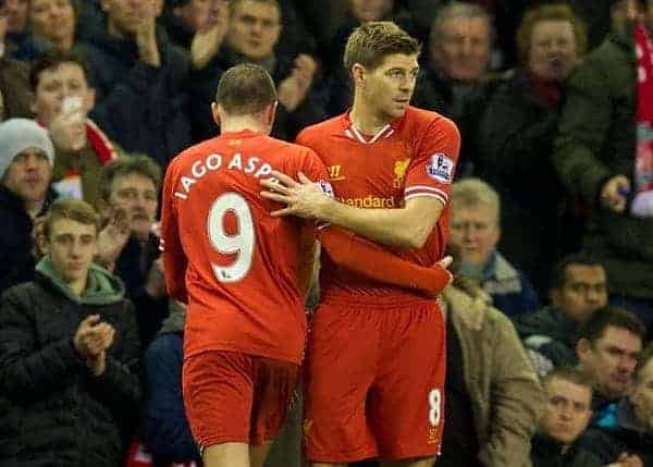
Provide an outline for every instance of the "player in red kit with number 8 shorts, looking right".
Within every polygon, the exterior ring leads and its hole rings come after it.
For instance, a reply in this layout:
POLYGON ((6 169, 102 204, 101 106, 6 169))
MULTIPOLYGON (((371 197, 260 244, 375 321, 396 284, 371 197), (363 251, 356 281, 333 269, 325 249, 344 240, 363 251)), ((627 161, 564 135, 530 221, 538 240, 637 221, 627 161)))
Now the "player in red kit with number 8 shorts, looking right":
MULTIPOLYGON (((320 219, 402 258, 442 258, 448 197, 460 146, 444 116, 409 106, 419 45, 394 23, 355 29, 345 66, 355 84, 345 114, 303 131, 297 143, 328 167, 337 199, 310 176, 273 172, 273 216, 320 219), (338 202, 340 201, 340 202, 338 202)), ((380 457, 431 466, 440 450, 444 402, 444 323, 436 300, 343 271, 326 251, 321 299, 307 353, 305 446, 316 466, 380 457)))

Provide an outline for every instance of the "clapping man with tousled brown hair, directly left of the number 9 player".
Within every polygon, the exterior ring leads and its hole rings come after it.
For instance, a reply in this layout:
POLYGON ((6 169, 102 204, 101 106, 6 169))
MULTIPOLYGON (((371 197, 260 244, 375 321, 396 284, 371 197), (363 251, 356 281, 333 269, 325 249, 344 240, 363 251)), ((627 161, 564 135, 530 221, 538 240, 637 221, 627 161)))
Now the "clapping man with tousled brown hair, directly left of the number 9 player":
POLYGON ((143 347, 168 316, 159 237, 153 231, 159 208, 161 169, 147 156, 116 159, 103 170, 98 208, 106 226, 99 235, 99 261, 123 280, 137 310, 143 347))

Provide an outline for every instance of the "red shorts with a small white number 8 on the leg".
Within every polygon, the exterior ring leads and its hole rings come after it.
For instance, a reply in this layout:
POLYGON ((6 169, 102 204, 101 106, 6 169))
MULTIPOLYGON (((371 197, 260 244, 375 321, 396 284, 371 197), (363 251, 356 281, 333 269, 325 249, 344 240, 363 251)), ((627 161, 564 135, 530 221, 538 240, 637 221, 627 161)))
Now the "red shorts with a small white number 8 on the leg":
POLYGON ((341 464, 438 455, 445 343, 435 302, 320 305, 306 367, 308 459, 341 464))

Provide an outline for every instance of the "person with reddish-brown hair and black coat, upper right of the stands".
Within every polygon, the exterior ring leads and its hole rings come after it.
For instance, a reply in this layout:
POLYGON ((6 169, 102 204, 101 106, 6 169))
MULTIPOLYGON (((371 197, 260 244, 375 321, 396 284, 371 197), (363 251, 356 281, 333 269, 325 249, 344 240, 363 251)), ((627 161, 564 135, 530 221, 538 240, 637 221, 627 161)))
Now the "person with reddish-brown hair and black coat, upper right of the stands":
MULTIPOLYGON (((480 149, 477 175, 501 195, 502 253, 543 293, 563 239, 576 241, 568 232, 563 237, 562 206, 571 204, 551 152, 563 83, 584 53, 587 35, 570 7, 535 4, 521 20, 517 39, 520 66, 505 74, 482 109, 475 135, 480 149)), ((575 246, 570 250, 580 245, 575 246)))

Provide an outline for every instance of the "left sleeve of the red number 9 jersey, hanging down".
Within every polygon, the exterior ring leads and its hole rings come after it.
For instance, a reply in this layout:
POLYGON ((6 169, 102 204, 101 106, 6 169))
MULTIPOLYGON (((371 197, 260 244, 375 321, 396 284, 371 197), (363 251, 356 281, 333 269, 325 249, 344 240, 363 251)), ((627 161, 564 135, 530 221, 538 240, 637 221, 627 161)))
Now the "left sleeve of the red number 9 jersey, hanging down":
POLYGON ((187 303, 186 266, 188 259, 182 247, 180 231, 174 207, 174 164, 171 163, 163 183, 163 199, 161 202, 161 243, 163 257, 165 287, 168 295, 187 303))

